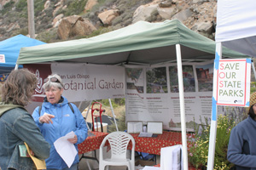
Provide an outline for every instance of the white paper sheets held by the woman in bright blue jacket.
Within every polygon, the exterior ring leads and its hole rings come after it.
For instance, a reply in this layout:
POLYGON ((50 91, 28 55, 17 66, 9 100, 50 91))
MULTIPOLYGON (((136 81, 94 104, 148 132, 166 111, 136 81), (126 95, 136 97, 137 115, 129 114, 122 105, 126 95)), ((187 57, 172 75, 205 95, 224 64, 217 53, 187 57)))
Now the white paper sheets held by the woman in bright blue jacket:
POLYGON ((78 154, 78 150, 76 150, 74 144, 67 140, 73 138, 74 135, 75 133, 72 131, 61 138, 56 139, 54 143, 56 151, 63 161, 67 163, 68 168, 72 166, 75 156, 78 154))

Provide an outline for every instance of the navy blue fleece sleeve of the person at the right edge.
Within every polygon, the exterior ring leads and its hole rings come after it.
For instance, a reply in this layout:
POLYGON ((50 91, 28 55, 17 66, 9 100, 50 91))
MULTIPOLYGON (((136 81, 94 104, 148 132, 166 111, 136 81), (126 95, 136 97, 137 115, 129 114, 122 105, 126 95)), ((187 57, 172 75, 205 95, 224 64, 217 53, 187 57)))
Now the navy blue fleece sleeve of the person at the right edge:
POLYGON ((227 158, 230 162, 241 167, 256 167, 256 156, 242 154, 244 135, 246 133, 243 132, 241 126, 231 130, 227 158))

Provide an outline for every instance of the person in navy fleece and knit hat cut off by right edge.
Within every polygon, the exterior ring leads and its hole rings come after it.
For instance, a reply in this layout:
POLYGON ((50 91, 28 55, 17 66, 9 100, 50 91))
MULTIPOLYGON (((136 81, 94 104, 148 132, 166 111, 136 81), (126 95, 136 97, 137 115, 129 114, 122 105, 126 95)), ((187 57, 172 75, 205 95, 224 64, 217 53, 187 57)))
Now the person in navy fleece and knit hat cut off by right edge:
POLYGON ((256 92, 251 94, 248 115, 230 133, 227 158, 236 170, 256 169, 256 92))

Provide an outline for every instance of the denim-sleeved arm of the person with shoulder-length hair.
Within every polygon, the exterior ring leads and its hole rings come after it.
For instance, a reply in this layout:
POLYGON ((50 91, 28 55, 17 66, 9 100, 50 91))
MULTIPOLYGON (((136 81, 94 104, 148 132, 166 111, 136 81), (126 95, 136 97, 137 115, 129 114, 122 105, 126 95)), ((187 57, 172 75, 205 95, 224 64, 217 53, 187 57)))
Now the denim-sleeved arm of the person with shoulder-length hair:
POLYGON ((49 157, 50 145, 45 141, 44 136, 40 133, 38 126, 29 113, 26 112, 26 114, 17 119, 13 132, 28 144, 34 156, 43 160, 49 157))

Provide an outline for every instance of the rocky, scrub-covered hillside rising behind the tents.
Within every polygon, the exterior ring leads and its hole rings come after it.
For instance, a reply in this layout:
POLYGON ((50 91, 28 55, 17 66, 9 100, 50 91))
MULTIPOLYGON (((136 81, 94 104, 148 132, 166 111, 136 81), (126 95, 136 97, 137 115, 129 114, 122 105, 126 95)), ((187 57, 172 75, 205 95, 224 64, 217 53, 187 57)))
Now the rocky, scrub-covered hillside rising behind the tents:
MULTIPOLYGON (((181 20, 214 38, 216 0, 34 0, 36 39, 59 42, 94 37, 138 20, 181 20)), ((27 35, 26 0, 0 0, 0 41, 27 35)))

